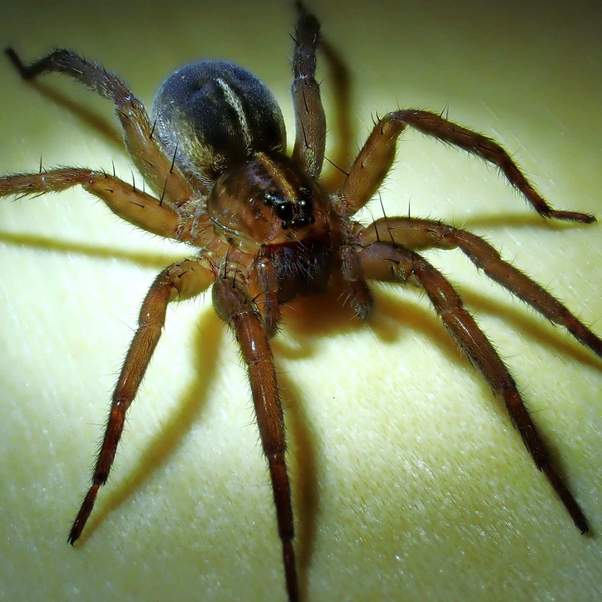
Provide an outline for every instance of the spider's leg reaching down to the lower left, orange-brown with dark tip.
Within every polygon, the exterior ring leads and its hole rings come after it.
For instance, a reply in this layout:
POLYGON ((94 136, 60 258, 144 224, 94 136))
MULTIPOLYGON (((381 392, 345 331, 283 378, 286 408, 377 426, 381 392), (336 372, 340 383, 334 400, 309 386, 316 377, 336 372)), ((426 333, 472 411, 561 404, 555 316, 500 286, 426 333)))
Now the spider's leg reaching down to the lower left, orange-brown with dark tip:
POLYGON ((134 400, 146 367, 161 337, 167 304, 173 300, 186 299, 201 293, 211 284, 215 276, 215 266, 207 258, 181 261, 163 270, 146 294, 140 309, 138 330, 125 356, 113 393, 111 412, 92 476, 92 486, 85 495, 67 539, 70 544, 75 543, 81 535, 92 512, 98 489, 107 482, 123 430, 125 414, 134 400))

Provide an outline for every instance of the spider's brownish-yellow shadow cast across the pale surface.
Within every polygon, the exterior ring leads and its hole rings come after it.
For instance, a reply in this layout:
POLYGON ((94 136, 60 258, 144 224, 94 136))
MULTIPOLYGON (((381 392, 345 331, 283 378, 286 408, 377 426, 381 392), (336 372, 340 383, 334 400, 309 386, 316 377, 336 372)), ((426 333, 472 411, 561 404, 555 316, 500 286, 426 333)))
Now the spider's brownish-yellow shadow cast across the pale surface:
MULTIPOLYGON (((55 92, 52 88, 34 82, 34 87, 46 98, 62 105, 79 119, 83 120, 88 128, 99 134, 105 141, 122 149, 122 141, 114 126, 108 120, 96 116, 95 113, 83 108, 81 105, 70 101, 66 96, 55 92)), ((473 228, 526 226, 537 228, 571 228, 571 224, 549 223, 538 216, 530 214, 507 214, 495 217, 471 217, 465 226, 473 228)), ((0 233, 0 241, 19 244, 22 246, 51 249, 59 252, 76 252, 87 256, 99 258, 120 258, 132 261, 144 267, 163 268, 166 264, 165 256, 152 256, 147 253, 119 252, 112 249, 94 247, 84 243, 65 243, 46 237, 35 235, 19 235, 0 233)), ((340 287, 330 290, 317 297, 308 297, 294 302, 294 309, 284 309, 287 332, 295 339, 297 346, 290 347, 284 337, 279 337, 273 342, 276 361, 278 358, 298 358, 311 356, 317 346, 317 341, 329 334, 361 329, 364 327, 359 320, 353 318, 352 311, 341 305, 340 287)), ((582 364, 602 370, 600 361, 592 353, 571 340, 562 330, 554 331, 545 324, 541 318, 533 317, 517 309, 513 305, 500 305, 479 294, 461 290, 462 297, 468 306, 478 312, 489 313, 503 318, 503 320, 526 332, 530 338, 545 346, 552 347, 569 358, 582 364)), ((377 337, 383 341, 393 341, 399 338, 402 329, 418 330, 426 334, 439 349, 442 349, 450 361, 472 370, 468 360, 459 352, 458 348, 449 337, 444 327, 433 312, 426 311, 415 303, 393 297, 388 293, 376 291, 376 312, 370 327, 377 337)), ((199 336, 194 345, 196 364, 199 367, 197 376, 188 388, 188 393, 182 398, 178 409, 166 424, 161 426, 148 443, 146 452, 138 460, 137 465, 129 476, 115 488, 107 491, 107 495, 98 504, 95 514, 82 534, 81 542, 85 542, 93 535, 110 512, 120 507, 136 491, 139 491, 147 480, 170 456, 176 452, 179 442, 185 434, 200 419, 207 399, 209 383, 217 366, 217 350, 222 340, 222 325, 217 317, 210 312, 203 315, 199 324, 199 336)), ((318 461, 321 456, 318 439, 314 436, 311 421, 303 408, 298 389, 287 374, 279 374, 283 398, 289 406, 287 409, 287 423, 293 440, 291 453, 293 464, 297 467, 296 489, 294 492, 296 505, 299 510, 299 525, 297 527, 297 553, 299 557, 300 578, 303 588, 306 587, 305 574, 311 562, 312 547, 317 528, 317 515, 319 508, 318 489, 318 461)), ((506 410, 498 406, 500 412, 506 415, 506 410)), ((517 435, 518 436, 518 435, 517 435)), ((553 445, 556 466, 559 472, 564 471, 559 466, 557 453, 553 445)))

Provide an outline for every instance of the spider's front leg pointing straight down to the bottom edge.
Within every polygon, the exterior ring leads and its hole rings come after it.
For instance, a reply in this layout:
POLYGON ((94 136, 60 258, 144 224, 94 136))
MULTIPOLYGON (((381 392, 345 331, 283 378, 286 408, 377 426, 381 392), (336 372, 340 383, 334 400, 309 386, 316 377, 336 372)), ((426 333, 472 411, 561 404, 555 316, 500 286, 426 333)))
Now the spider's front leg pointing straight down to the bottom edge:
POLYGON ((272 350, 258 309, 237 281, 217 279, 213 285, 213 303, 220 318, 234 330, 249 371, 259 436, 270 468, 288 600, 297 602, 299 585, 293 548, 293 506, 285 461, 287 443, 272 350))

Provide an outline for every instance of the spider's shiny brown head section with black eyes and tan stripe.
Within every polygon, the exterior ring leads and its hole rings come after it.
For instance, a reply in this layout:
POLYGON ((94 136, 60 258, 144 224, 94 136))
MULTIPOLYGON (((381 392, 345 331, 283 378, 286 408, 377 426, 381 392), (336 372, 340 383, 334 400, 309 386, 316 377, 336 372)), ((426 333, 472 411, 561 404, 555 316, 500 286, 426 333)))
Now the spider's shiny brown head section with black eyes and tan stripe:
POLYGON ((226 169, 207 209, 217 235, 251 253, 330 229, 327 194, 284 155, 259 152, 226 169))

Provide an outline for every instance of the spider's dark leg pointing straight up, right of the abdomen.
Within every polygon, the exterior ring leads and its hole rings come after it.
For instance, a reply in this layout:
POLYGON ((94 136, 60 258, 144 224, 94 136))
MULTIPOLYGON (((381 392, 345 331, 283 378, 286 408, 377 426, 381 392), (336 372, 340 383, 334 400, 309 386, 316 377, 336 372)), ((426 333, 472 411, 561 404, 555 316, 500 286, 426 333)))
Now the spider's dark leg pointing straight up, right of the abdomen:
POLYGON ((320 98, 320 85, 315 81, 315 47, 320 23, 298 2, 299 19, 293 38, 293 107, 296 137, 293 160, 312 178, 317 178, 324 161, 326 117, 320 98))

